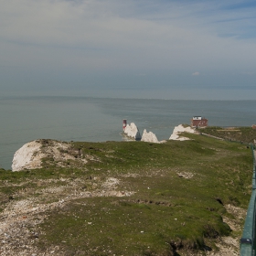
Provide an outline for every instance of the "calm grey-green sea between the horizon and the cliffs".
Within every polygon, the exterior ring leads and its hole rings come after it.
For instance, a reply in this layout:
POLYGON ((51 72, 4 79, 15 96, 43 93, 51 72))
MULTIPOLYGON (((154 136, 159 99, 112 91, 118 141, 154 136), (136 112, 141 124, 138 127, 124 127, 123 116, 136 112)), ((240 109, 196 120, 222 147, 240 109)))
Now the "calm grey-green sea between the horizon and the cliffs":
POLYGON ((256 101, 173 101, 74 97, 0 99, 0 166, 10 169, 13 155, 35 139, 122 141, 123 119, 168 139, 176 125, 194 115, 209 125, 251 126, 256 101))

